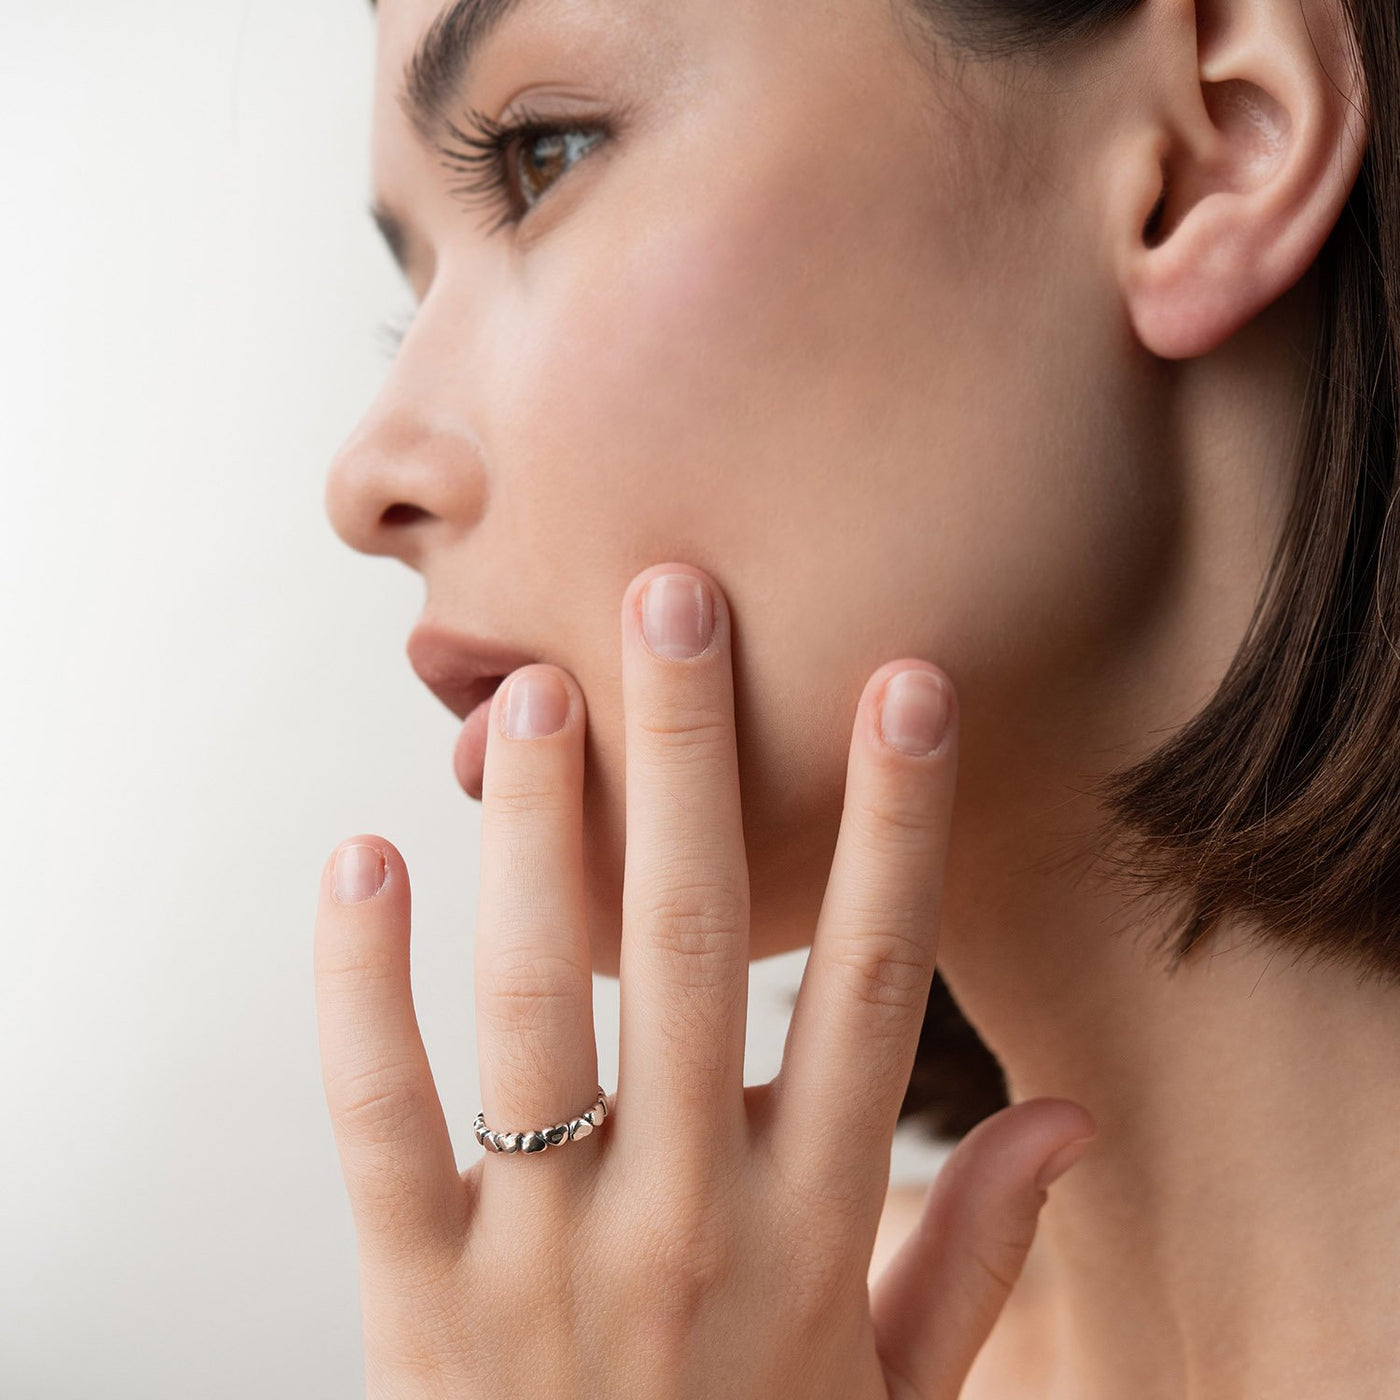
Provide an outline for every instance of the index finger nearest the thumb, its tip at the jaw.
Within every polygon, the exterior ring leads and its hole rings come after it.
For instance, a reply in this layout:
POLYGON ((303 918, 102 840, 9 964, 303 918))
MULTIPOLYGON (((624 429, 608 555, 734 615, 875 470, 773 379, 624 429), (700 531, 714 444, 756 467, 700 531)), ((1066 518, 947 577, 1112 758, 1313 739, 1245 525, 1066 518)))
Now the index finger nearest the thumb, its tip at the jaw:
POLYGON ((956 743, 956 694, 937 666, 892 661, 867 682, 769 1126, 826 1196, 860 1200, 872 1162, 888 1172, 938 952, 956 743), (882 738, 882 703, 907 748, 882 738))

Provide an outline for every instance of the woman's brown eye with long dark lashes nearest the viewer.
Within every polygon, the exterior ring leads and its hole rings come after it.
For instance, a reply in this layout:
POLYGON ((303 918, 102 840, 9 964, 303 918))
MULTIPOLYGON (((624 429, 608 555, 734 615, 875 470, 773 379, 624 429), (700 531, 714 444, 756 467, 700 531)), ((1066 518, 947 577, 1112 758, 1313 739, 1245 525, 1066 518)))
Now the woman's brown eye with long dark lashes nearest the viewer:
POLYGON ((522 112, 497 122, 472 111, 468 130, 455 123, 451 140, 438 141, 442 164, 469 175, 452 186, 468 206, 484 204, 497 211, 487 230, 518 224, 540 199, 612 130, 606 123, 578 125, 522 112))

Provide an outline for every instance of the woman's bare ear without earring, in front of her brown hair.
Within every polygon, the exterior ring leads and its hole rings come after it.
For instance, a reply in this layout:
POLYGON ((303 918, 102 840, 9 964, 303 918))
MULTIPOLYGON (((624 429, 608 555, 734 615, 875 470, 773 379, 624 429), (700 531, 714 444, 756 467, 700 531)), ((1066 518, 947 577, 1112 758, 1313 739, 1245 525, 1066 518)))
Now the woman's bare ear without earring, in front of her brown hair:
POLYGON ((1119 281, 1142 344, 1207 354, 1313 265, 1369 133, 1343 0, 1161 0, 1149 172, 1119 281))

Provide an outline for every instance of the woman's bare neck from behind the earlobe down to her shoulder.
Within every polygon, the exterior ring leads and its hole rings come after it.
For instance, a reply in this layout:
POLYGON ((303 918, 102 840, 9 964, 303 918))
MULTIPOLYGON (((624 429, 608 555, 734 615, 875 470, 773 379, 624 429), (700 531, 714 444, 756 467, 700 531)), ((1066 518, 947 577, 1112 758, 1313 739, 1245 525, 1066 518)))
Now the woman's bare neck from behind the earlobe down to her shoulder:
POLYGON ((1114 675, 1046 694, 1000 781, 1005 731, 965 715, 959 766, 987 799, 959 812, 939 967, 1014 1100, 1099 1123, 1028 1264, 1057 1400, 1350 1400, 1400 1376, 1400 988, 1238 927, 1168 973, 1141 906, 1067 860, 1100 818, 1085 776, 1204 704, 1245 634, 1287 504, 1306 295, 1179 367, 1180 571, 1114 675))

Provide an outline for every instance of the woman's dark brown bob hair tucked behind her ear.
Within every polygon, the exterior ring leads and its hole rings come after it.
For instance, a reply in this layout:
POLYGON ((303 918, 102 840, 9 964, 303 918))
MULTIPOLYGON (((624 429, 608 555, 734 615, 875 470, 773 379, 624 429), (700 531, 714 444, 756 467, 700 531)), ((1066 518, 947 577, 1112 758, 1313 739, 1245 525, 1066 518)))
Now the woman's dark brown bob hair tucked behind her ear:
MULTIPOLYGON (((973 56, 1071 43, 1140 0, 914 0, 973 56)), ((1205 707, 1096 785, 1105 868, 1168 916, 1175 970, 1226 917, 1257 942, 1400 983, 1400 8, 1341 0, 1368 90, 1355 188, 1317 259, 1294 500, 1205 707)), ((994 1072, 995 1071, 995 1072, 994 1072)), ((955 1138, 1007 1103, 935 974, 900 1120, 955 1138)))

